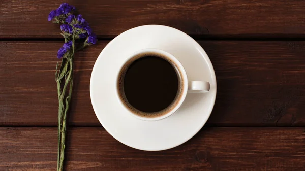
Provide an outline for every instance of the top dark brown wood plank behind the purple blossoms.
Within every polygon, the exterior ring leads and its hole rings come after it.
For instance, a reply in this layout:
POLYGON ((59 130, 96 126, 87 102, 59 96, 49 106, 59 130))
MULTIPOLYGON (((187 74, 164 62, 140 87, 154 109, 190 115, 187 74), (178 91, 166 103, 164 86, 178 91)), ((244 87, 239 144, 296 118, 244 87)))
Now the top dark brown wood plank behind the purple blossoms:
MULTIPOLYGON (((58 38, 58 25, 47 21, 63 1, 0 2, 0 38, 58 38)), ((175 27, 190 35, 212 37, 304 37, 305 1, 157 0, 67 1, 99 37, 146 24, 175 27)))

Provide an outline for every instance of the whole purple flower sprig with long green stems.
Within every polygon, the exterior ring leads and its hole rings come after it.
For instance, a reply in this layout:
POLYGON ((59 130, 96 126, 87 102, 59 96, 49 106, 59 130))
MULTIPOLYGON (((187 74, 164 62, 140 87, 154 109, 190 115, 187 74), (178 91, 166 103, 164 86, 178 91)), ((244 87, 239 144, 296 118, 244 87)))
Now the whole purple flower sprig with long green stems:
POLYGON ((51 11, 48 16, 49 21, 60 24, 60 30, 62 30, 60 34, 65 38, 64 45, 57 52, 57 58, 63 60, 59 67, 59 62, 57 62, 55 69, 58 95, 57 171, 63 171, 64 168, 66 120, 73 92, 74 54, 97 42, 97 36, 92 32, 88 22, 82 18, 82 15, 74 13, 75 7, 63 3, 58 9, 51 11))

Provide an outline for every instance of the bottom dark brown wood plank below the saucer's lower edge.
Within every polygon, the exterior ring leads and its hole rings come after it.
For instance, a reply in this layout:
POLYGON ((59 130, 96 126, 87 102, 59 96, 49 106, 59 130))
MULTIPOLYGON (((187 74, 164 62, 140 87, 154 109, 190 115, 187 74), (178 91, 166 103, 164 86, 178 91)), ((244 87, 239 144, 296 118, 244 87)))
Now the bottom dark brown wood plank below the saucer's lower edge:
MULTIPOLYGON (((66 170, 302 170, 304 128, 203 128, 176 148, 132 149, 103 128, 69 128, 66 170)), ((0 128, 0 170, 55 170, 56 128, 0 128), (17 141, 16 141, 17 140, 17 141)))

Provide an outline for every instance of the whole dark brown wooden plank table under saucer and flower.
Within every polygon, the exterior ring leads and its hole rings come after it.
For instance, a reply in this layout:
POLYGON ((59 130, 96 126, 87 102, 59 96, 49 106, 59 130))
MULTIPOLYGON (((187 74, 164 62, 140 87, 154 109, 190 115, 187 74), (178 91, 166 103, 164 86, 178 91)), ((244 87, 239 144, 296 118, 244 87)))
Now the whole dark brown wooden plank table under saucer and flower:
MULTIPOLYGON (((75 57, 66 170, 304 170, 305 1, 68 1, 97 46, 75 57), (218 92, 206 125, 176 148, 132 149, 101 126, 89 80, 101 50, 145 24, 188 33, 214 65, 218 92)), ((62 1, 0 2, 0 170, 55 170, 58 25, 62 1)))

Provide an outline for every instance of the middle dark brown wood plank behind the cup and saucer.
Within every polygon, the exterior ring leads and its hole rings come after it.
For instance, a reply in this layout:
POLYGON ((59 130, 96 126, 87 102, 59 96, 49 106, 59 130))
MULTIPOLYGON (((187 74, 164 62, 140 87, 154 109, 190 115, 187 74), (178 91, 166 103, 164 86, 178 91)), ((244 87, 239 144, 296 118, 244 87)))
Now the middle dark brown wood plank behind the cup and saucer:
MULTIPOLYGON (((69 123, 100 125, 90 74, 108 41, 76 56, 69 123)), ((200 41, 214 64, 218 92, 210 126, 304 126, 305 42, 200 41)), ((62 42, 0 43, 0 125, 57 125, 54 81, 62 42)))

